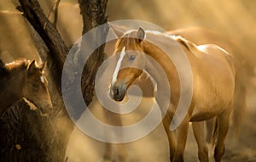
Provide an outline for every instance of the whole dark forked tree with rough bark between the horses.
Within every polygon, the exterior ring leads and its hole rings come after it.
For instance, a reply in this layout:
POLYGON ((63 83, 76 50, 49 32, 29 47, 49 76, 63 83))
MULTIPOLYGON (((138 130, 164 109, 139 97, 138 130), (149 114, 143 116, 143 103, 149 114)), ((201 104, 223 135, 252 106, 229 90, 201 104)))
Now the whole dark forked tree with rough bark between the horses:
MULTIPOLYGON (((13 104, 0 117, 0 161, 62 162, 66 158, 68 138, 73 131, 73 121, 67 115, 61 98, 61 71, 68 49, 37 0, 19 1, 19 9, 49 49, 49 92, 55 109, 48 116, 43 116, 39 111, 30 110, 23 100, 13 104)), ((83 33, 107 21, 107 0, 81 0, 79 5, 84 20, 83 33)), ((106 29, 106 35, 101 35, 102 39, 107 36, 107 31, 106 29)), ((87 104, 93 96, 96 70, 102 63, 103 56, 103 47, 100 47, 85 65, 82 87, 87 104)))

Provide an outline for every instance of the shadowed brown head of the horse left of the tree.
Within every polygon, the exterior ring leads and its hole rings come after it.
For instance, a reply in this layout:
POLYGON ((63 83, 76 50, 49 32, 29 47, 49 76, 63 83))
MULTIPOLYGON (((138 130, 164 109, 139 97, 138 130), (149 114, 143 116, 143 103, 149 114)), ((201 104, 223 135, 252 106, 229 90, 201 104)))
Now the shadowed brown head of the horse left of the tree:
POLYGON ((44 77, 44 67, 45 63, 37 65, 35 60, 28 64, 22 88, 23 97, 34 103, 39 109, 52 108, 48 81, 44 77))

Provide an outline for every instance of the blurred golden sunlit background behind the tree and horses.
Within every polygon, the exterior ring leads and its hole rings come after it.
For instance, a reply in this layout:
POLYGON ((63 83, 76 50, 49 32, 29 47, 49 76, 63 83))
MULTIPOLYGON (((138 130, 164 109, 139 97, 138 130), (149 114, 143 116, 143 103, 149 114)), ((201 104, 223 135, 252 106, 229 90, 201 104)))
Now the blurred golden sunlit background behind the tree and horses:
MULTIPOLYGON (((54 1, 39 2, 44 8, 44 13, 48 15, 54 1)), ((33 39, 35 33, 15 9, 16 5, 18 3, 15 0, 0 1, 0 59, 5 63, 20 57, 39 61, 37 44, 33 39)), ((236 42, 241 50, 241 61, 245 61, 244 65, 249 74, 247 116, 241 128, 245 130, 241 133, 241 148, 228 149, 224 161, 256 160, 255 7, 254 0, 108 0, 109 21, 145 20, 160 25, 166 31, 198 26, 236 42)), ((53 14, 49 14, 49 19, 53 20, 53 14)), ((57 28, 68 46, 79 39, 82 26, 77 1, 61 0, 57 28)), ((196 158, 195 150, 195 140, 189 137, 187 159, 190 156, 196 158)))

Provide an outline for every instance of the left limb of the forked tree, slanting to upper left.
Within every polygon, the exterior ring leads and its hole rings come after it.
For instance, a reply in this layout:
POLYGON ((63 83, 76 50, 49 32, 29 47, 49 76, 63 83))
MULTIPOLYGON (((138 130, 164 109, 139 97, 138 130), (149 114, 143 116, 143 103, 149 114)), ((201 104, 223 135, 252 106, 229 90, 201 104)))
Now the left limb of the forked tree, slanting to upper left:
POLYGON ((37 0, 19 0, 19 2, 23 15, 42 37, 61 74, 68 53, 68 48, 65 42, 61 39, 55 25, 53 25, 45 16, 37 0))

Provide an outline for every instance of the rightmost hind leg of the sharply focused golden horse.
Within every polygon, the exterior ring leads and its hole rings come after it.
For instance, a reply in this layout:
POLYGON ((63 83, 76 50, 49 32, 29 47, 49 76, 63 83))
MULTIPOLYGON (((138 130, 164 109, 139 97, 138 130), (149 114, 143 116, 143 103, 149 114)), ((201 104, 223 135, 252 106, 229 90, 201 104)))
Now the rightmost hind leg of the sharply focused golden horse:
POLYGON ((214 149, 214 159, 216 162, 220 162, 224 155, 224 139, 229 130, 230 113, 231 108, 224 110, 222 114, 218 115, 218 139, 214 149))

